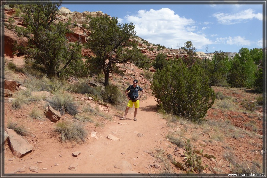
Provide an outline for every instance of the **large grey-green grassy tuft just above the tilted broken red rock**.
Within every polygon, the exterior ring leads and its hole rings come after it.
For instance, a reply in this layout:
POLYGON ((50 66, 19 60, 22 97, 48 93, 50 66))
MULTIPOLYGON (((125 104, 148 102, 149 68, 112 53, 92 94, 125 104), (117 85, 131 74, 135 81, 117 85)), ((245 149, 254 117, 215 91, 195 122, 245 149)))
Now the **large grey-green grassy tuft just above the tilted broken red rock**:
POLYGON ((78 104, 74 101, 71 94, 66 93, 63 90, 58 90, 54 93, 51 100, 48 100, 50 105, 64 115, 65 112, 70 115, 76 115, 78 113, 78 104))

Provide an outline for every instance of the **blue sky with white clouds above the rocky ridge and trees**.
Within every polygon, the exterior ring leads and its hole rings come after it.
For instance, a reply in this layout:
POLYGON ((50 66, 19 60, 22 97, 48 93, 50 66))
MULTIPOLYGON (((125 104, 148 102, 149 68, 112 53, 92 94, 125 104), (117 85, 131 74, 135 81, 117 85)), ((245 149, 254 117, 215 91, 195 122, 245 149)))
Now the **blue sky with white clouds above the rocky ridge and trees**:
MULTIPOLYGON (((64 3, 64 1, 63 1, 64 3)), ((69 2, 70 3, 70 2, 69 2)), ((136 35, 172 49, 192 41, 196 51, 239 52, 263 47, 260 4, 62 4, 70 11, 102 11, 133 22, 136 35)))

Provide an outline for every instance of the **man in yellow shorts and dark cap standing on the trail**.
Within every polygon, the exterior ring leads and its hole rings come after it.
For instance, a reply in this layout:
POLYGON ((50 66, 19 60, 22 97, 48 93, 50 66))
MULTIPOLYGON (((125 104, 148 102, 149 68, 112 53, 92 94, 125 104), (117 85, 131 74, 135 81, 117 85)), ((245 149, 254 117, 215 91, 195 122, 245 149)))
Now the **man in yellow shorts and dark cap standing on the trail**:
POLYGON ((123 118, 120 118, 120 120, 126 119, 126 115, 129 111, 130 107, 133 107, 133 105, 134 105, 134 121, 137 121, 136 114, 137 114, 137 109, 139 108, 139 99, 144 95, 144 89, 139 87, 137 85, 137 83, 138 83, 138 80, 135 79, 133 85, 130 85, 125 90, 125 94, 129 100, 129 102, 128 102, 127 107, 125 109, 124 116, 123 116, 123 118), (129 90, 130 90, 130 92, 128 93, 129 90), (138 96, 139 90, 142 91, 140 96, 138 96))

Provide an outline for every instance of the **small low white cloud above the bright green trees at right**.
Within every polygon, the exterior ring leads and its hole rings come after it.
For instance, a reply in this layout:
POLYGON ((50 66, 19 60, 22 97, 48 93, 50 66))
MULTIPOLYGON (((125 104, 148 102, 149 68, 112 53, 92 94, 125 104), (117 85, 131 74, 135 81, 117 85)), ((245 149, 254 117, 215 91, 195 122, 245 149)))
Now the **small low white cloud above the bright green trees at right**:
POLYGON ((225 37, 217 38, 215 41, 216 44, 226 44, 226 45, 238 45, 238 46, 249 46, 251 43, 249 40, 246 40, 244 37, 235 36, 235 37, 225 37))

